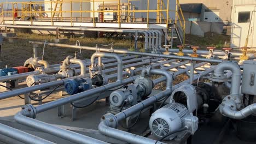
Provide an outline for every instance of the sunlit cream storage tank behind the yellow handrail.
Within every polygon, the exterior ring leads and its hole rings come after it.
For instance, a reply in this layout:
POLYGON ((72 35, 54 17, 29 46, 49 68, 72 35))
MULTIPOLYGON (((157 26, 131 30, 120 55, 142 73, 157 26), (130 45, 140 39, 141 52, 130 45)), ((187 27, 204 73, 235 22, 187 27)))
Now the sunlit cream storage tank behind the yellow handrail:
MULTIPOLYGON (((54 15, 54 17, 57 17, 57 15, 59 14, 59 10, 61 7, 60 2, 57 3, 57 0, 44 0, 44 9, 45 11, 49 11, 47 13, 48 17, 51 17, 51 9, 54 11, 55 5, 57 5, 56 8, 56 14, 54 15)), ((75 1, 72 2, 72 11, 80 11, 80 9, 82 8, 82 10, 90 10, 90 2, 79 2, 79 1, 75 1)), ((68 11, 67 13, 63 12, 62 13, 62 17, 71 17, 71 1, 70 0, 63 0, 63 4, 62 4, 62 11, 68 11)), ((80 17, 81 13, 72 13, 72 17, 80 17)), ((60 16, 59 16, 60 17, 60 16)), ((90 17, 90 13, 82 13, 82 17, 90 17)))

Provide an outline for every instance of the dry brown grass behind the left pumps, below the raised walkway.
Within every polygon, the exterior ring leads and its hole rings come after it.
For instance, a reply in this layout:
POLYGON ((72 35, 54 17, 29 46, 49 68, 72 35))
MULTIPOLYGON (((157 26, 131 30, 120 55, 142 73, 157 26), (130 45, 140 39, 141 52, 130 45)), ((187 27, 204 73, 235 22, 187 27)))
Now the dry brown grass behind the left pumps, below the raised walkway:
MULTIPOLYGON (((8 40, 3 41, 2 45, 2 62, 8 67, 16 67, 23 65, 26 59, 33 56, 33 46, 28 43, 30 40, 34 41, 44 41, 49 42, 55 39, 54 35, 38 35, 31 33, 17 33, 18 40, 10 44, 8 40)), ((112 38, 72 38, 68 39, 66 44, 75 45, 75 42, 79 40, 80 44, 83 46, 96 46, 96 44, 110 44, 114 43, 114 47, 119 49, 129 49, 132 46, 130 40, 125 39, 112 39, 112 38)), ((38 49, 38 56, 41 57, 43 52, 43 46, 38 49)), ((46 46, 44 52, 44 59, 50 64, 60 63, 66 56, 74 56, 74 49, 62 49, 60 47, 46 46)), ((86 59, 94 53, 93 51, 82 51, 82 55, 78 58, 86 59)))

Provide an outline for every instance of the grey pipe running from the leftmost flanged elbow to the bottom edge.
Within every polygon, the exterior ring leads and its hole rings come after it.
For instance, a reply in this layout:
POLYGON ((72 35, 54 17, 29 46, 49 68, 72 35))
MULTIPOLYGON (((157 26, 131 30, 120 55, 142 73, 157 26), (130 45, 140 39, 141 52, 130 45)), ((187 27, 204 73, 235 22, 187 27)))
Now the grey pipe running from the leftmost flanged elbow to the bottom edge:
MULTIPOLYGON (((103 142, 97 139, 93 139, 92 137, 85 136, 82 134, 75 133, 73 131, 69 131, 66 129, 61 129, 58 127, 55 127, 54 125, 50 125, 44 122, 40 122, 36 119, 32 119, 29 117, 26 117, 25 113, 22 113, 24 111, 16 113, 14 116, 15 121, 17 121, 20 124, 27 125, 28 127, 32 127, 38 130, 42 130, 45 133, 55 135, 57 137, 60 137, 62 139, 75 142, 75 143, 84 143, 84 144, 91 144, 91 143, 96 143, 96 144, 106 144, 107 142, 103 142)), ((27 137, 24 135, 25 139, 29 139, 30 137, 27 137)))

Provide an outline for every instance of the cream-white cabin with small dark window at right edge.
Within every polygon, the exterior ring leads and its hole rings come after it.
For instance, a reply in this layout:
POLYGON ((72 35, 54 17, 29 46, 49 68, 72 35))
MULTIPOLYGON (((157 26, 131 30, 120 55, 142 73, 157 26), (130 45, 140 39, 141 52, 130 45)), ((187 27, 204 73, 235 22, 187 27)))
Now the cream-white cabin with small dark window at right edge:
POLYGON ((256 1, 233 1, 231 47, 256 47, 256 1))

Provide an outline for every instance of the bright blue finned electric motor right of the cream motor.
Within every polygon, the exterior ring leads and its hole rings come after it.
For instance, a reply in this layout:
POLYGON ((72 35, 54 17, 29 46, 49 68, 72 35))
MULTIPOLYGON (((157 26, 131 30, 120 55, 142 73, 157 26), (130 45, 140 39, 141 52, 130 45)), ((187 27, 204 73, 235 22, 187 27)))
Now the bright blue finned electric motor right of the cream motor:
POLYGON ((65 82, 64 86, 65 91, 70 95, 84 92, 90 89, 90 83, 82 78, 68 80, 65 82))

